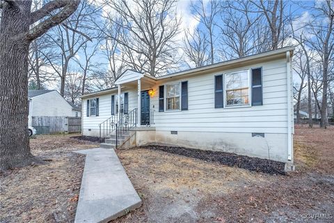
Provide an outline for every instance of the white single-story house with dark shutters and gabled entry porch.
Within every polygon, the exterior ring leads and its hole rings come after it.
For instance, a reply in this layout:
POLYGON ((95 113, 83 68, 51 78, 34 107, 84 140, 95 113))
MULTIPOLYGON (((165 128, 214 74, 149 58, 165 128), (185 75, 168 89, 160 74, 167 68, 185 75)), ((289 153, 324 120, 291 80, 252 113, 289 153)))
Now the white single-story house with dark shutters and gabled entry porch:
POLYGON ((99 137, 109 128, 114 134, 118 123, 135 132, 129 146, 168 144, 292 164, 293 51, 159 77, 126 70, 117 88, 81 97, 82 133, 99 137))

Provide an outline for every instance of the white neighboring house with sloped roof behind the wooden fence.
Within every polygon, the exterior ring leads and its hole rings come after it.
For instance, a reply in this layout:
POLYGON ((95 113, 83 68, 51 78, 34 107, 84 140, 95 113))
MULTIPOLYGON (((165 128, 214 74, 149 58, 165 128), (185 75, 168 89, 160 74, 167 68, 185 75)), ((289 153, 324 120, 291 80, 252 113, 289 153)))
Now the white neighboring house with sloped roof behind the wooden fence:
POLYGON ((31 116, 81 116, 81 109, 56 90, 29 90, 29 125, 31 116))

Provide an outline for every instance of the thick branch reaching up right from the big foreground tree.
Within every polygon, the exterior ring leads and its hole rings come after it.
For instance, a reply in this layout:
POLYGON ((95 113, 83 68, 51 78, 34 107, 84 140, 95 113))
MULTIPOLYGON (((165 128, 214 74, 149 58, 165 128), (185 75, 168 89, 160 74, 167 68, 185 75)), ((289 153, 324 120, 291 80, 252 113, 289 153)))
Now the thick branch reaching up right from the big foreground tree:
MULTIPOLYGON (((58 2, 58 0, 54 0, 54 1, 51 1, 50 3, 55 2, 55 1, 58 2)), ((63 9, 59 13, 57 13, 54 16, 49 17, 47 20, 41 22, 37 26, 34 26, 27 33, 24 33, 23 39, 28 40, 28 41, 35 40, 35 38, 42 36, 52 27, 58 24, 61 24, 64 20, 70 17, 70 15, 72 15, 72 13, 74 13, 75 10, 77 10, 80 0, 65 1, 65 3, 66 5, 63 7, 63 9)))

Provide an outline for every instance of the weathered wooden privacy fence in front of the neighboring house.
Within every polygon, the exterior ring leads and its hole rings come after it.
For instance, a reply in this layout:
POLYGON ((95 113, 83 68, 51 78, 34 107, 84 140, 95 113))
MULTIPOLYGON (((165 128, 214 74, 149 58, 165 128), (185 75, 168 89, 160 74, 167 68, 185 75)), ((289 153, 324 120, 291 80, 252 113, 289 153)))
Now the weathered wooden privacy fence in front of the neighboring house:
POLYGON ((81 132, 81 117, 32 116, 31 125, 37 134, 81 132))

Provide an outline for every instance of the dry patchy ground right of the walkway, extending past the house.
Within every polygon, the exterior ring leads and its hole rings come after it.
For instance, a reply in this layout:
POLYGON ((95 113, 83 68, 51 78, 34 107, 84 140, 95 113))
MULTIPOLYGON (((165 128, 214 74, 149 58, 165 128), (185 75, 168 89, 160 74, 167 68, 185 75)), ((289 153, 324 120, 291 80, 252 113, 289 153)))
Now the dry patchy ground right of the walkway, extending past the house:
POLYGON ((271 175, 164 151, 118 150, 143 206, 113 222, 333 222, 334 129, 297 127, 296 172, 271 175))

